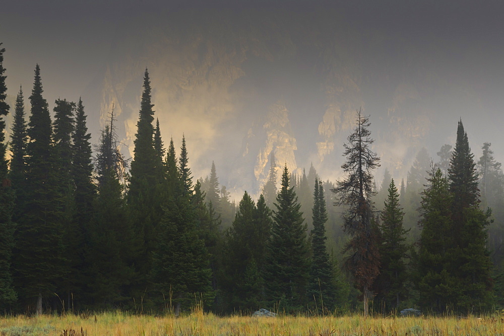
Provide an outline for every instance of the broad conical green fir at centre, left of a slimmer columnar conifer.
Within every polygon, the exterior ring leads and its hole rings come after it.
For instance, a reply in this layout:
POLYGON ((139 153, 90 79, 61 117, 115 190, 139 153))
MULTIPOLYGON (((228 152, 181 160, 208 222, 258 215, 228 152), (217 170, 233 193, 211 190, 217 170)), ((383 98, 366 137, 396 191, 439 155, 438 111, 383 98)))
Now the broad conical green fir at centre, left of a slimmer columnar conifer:
POLYGON ((277 196, 272 236, 268 244, 265 269, 266 294, 271 306, 295 311, 306 303, 309 261, 306 224, 293 188, 287 165, 282 174, 282 188, 277 196))

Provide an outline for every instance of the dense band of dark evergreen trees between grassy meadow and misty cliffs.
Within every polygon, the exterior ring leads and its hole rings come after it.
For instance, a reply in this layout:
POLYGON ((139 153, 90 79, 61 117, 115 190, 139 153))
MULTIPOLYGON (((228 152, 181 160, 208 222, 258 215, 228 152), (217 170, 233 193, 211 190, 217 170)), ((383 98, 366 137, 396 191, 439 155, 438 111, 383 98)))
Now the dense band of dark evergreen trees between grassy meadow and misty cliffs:
MULTIPOLYGON (((0 116, 11 110, 4 52, 0 116)), ((20 89, 10 141, 0 121, 5 311, 504 306, 504 175, 489 143, 475 161, 462 121, 439 162, 422 149, 406 183, 386 170, 376 186, 380 158, 358 112, 342 180, 285 166, 278 185, 272 155, 259 199, 245 192, 236 205, 214 163, 209 177, 193 180, 184 137, 178 153, 172 139, 165 148, 147 70, 131 162, 119 150, 113 110, 93 155, 83 102, 56 100, 51 119, 42 93, 37 65, 28 120, 20 89)))

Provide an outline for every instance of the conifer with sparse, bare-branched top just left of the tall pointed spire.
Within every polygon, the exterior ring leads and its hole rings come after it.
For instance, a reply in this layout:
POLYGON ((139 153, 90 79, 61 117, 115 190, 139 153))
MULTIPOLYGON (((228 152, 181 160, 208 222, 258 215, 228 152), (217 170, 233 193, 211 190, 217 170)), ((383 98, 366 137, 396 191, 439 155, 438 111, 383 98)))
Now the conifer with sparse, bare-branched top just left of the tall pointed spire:
POLYGON ((118 150, 113 122, 112 112, 110 123, 101 132, 97 146, 95 162, 100 184, 86 234, 89 240, 87 296, 93 306, 103 309, 119 308, 131 300, 130 285, 135 276, 133 264, 138 252, 121 184, 127 161, 118 150))

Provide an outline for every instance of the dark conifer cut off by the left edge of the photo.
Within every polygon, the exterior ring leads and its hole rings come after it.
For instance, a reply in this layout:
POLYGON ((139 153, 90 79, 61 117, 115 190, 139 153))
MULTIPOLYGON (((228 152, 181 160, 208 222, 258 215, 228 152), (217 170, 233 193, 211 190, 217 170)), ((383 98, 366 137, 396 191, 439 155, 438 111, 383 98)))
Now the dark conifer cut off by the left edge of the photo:
MULTIPOLYGON (((8 309, 15 303, 17 294, 13 287, 12 277, 12 248, 14 246, 14 191, 8 179, 5 141, 5 120, 9 113, 9 105, 6 103, 7 87, 5 84, 6 69, 4 68, 4 52, 0 43, 0 309, 8 309)), ((19 97, 19 96, 18 96, 19 97)))

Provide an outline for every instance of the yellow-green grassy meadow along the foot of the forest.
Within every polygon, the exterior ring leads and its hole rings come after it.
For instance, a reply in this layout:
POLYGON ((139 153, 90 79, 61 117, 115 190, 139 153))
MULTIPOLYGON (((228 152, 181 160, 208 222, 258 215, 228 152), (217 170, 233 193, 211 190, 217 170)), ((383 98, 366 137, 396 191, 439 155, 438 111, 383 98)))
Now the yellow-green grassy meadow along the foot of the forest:
POLYGON ((504 318, 487 317, 181 317, 43 315, 0 318, 0 335, 504 335, 504 318))

